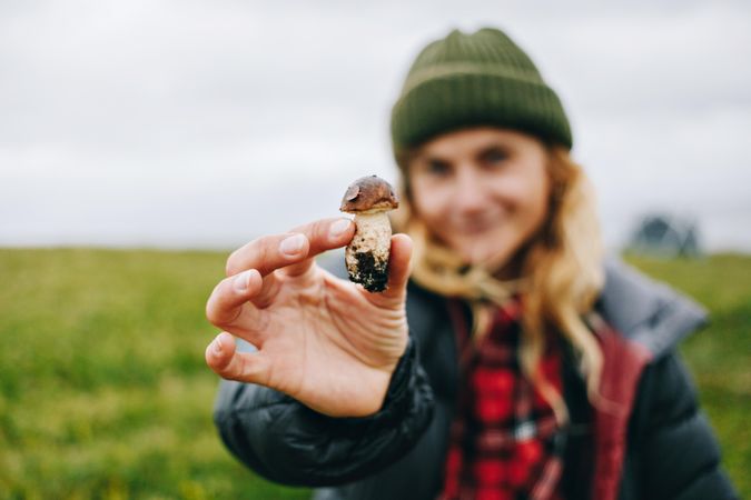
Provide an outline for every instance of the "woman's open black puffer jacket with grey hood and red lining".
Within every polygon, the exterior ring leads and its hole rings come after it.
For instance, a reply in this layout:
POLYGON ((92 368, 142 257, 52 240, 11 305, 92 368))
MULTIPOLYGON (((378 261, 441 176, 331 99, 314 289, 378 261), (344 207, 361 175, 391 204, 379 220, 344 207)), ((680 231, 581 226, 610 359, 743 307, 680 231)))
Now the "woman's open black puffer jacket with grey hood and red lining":
MULTIPOLYGON (((599 310, 619 333, 603 341, 603 386, 610 383, 628 411, 599 419, 574 363, 564 363, 572 414, 565 497, 737 498, 673 352, 703 322, 703 312, 621 263, 609 264, 606 276, 599 310)), ((435 498, 457 392, 455 337, 445 300, 414 284, 407 319, 407 352, 378 413, 328 418, 274 390, 223 381, 215 421, 226 446, 271 481, 327 487, 316 491, 318 499, 435 498)))

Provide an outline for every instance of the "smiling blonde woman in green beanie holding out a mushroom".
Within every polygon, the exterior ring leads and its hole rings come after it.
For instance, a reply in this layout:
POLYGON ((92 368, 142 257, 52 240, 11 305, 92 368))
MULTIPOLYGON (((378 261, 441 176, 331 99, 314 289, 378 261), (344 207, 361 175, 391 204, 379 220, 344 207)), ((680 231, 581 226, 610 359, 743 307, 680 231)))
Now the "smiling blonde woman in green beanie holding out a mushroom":
POLYGON ((733 498, 673 353, 703 313, 603 262, 530 58, 494 29, 431 43, 392 137, 408 236, 385 292, 314 262, 353 238, 346 219, 230 256, 206 351, 228 448, 317 498, 733 498))

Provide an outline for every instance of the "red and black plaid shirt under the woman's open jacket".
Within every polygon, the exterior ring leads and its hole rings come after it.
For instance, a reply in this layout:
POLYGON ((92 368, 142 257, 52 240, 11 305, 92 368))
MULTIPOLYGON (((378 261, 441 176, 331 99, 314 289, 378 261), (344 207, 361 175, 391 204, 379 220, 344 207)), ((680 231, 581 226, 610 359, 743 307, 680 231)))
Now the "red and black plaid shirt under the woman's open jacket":
MULTIPOLYGON (((553 409, 522 376, 517 349, 521 303, 498 308, 491 331, 470 338, 461 307, 452 303, 460 348, 460 400, 451 428, 441 499, 560 499, 563 432, 553 409)), ((561 391, 560 349, 542 360, 561 391)))

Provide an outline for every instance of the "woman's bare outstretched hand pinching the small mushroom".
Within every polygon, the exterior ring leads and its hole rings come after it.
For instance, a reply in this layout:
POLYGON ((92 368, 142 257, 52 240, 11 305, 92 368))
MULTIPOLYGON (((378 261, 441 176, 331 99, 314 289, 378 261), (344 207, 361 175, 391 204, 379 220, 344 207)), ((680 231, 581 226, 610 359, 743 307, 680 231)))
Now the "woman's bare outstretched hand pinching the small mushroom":
POLYGON ((206 304, 208 320, 225 330, 206 349, 207 364, 225 379, 267 386, 328 416, 378 411, 407 344, 412 241, 392 237, 388 289, 368 293, 314 261, 354 233, 350 220, 327 219, 236 250, 228 278, 206 304), (258 351, 237 352, 233 336, 258 351))

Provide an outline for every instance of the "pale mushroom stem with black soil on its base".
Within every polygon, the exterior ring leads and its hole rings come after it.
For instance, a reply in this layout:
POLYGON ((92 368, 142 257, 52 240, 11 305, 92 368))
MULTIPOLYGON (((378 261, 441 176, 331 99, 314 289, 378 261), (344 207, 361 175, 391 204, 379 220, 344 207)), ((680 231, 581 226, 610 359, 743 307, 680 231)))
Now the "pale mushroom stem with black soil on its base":
POLYGON ((357 230, 345 251, 349 279, 366 290, 378 292, 388 281, 388 252, 392 224, 384 210, 368 210, 355 214, 357 230))

